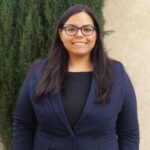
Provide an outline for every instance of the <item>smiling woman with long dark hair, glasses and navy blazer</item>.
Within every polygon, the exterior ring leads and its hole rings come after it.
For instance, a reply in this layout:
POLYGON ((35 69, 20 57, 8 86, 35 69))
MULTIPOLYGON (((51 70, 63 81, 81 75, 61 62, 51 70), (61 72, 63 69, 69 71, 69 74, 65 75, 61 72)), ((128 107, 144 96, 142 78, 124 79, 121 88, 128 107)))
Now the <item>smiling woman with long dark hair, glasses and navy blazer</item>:
POLYGON ((138 150, 134 89, 107 57, 94 13, 70 7, 47 58, 28 73, 13 122, 13 150, 138 150))

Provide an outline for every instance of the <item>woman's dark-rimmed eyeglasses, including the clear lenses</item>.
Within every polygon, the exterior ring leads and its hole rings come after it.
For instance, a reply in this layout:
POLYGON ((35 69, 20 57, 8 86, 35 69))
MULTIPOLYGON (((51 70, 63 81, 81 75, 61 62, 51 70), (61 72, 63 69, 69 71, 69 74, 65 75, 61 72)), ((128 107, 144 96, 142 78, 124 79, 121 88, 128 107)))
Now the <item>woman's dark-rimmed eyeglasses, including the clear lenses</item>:
POLYGON ((78 30, 81 30, 84 36, 89 36, 93 34, 95 27, 92 25, 84 25, 82 27, 77 27, 75 25, 68 25, 66 27, 63 27, 62 30, 65 30, 66 34, 69 36, 76 35, 78 33, 78 30))

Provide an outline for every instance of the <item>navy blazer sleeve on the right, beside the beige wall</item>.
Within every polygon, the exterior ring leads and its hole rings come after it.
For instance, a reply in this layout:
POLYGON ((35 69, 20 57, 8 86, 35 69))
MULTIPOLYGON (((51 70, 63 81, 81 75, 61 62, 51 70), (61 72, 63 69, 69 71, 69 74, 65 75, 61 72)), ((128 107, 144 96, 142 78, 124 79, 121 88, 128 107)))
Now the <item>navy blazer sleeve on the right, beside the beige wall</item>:
POLYGON ((122 83, 125 98, 117 120, 119 150, 139 150, 139 125, 137 116, 136 96, 132 83, 122 69, 122 83))

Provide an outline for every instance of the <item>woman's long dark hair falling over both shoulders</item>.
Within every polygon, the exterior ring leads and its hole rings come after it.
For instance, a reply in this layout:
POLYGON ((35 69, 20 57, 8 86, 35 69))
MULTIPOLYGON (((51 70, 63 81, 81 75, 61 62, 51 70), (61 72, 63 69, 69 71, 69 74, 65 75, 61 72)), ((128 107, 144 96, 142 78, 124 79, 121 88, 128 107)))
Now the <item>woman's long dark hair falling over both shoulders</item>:
POLYGON ((49 92, 58 93, 63 89, 63 83, 68 72, 69 55, 60 39, 59 29, 62 29, 69 17, 79 12, 87 13, 92 18, 96 28, 97 39, 90 55, 94 66, 93 78, 98 91, 97 101, 105 103, 108 100, 112 88, 112 80, 109 69, 111 60, 107 57, 104 50, 102 33, 100 31, 98 19, 89 7, 81 4, 74 5, 67 9, 58 22, 55 38, 49 54, 45 59, 43 75, 36 88, 36 97, 38 99, 42 98, 42 96, 49 92))

